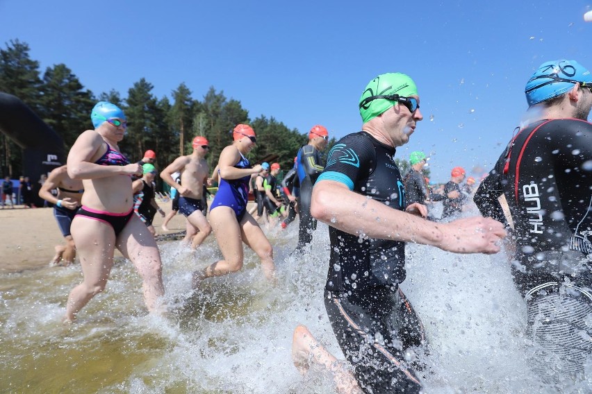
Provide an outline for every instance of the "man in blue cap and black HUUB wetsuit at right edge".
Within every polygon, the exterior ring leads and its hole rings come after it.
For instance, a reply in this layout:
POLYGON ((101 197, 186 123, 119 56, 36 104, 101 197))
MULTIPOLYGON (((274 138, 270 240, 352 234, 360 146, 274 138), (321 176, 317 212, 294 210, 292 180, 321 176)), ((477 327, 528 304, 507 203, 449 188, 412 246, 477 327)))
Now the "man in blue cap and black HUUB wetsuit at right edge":
POLYGON ((554 383, 583 379, 592 352, 591 87, 575 60, 538 67, 525 87, 531 119, 474 197, 484 216, 512 226, 511 270, 526 299, 535 369, 554 383))

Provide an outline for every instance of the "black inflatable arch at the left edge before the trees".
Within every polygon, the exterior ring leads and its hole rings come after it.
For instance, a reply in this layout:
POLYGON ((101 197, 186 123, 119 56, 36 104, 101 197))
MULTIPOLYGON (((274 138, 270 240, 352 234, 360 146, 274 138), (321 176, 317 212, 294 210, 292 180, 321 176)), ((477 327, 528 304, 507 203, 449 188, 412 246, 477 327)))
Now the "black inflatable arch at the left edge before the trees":
MULTIPOLYGON (((17 96, 0 92, 0 131, 23 149, 23 173, 38 189, 41 174, 65 164, 64 142, 17 96)), ((8 174, 5 174, 8 175, 8 174)))

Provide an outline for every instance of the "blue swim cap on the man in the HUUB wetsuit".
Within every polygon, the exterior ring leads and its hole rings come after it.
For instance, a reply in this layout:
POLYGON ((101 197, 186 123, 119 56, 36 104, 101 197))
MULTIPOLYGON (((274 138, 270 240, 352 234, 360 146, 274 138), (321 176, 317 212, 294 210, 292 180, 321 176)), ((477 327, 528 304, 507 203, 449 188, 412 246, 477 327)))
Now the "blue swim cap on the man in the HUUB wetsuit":
POLYGON ((526 101, 529 106, 541 103, 569 92, 577 83, 591 84, 592 76, 575 60, 544 62, 526 84, 526 101))

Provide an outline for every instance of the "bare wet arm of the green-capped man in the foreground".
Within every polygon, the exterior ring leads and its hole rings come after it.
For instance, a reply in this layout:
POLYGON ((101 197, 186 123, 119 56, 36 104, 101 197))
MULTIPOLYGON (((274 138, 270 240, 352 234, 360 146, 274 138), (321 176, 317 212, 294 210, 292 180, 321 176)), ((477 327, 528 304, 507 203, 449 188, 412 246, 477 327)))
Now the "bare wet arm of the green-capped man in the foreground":
POLYGON ((400 212, 350 191, 332 180, 321 180, 313 189, 311 214, 350 234, 377 239, 423 243, 459 253, 495 253, 505 237, 502 223, 473 217, 451 223, 434 223, 400 212), (337 197, 339 203, 336 203, 337 197))

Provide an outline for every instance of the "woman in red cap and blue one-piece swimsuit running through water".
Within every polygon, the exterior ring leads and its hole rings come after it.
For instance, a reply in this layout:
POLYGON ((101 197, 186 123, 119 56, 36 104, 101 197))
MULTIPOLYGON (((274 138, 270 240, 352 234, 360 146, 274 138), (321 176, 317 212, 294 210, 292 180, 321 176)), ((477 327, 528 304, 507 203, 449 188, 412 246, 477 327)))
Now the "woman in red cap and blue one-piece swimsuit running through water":
POLYGON ((244 259, 242 243, 252 248, 261 259, 261 268, 268 280, 274 278, 273 250, 263 230, 247 212, 251 174, 261 172, 261 165, 252 167, 245 157, 256 143, 251 126, 239 124, 232 133, 234 142, 220 153, 217 171, 218 191, 210 209, 210 224, 224 259, 193 273, 193 288, 206 277, 240 271, 244 259))

